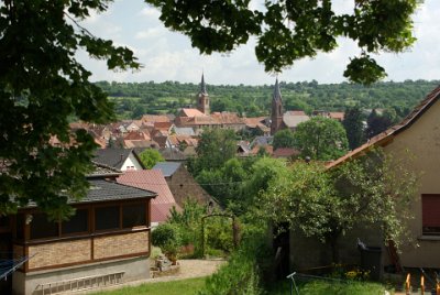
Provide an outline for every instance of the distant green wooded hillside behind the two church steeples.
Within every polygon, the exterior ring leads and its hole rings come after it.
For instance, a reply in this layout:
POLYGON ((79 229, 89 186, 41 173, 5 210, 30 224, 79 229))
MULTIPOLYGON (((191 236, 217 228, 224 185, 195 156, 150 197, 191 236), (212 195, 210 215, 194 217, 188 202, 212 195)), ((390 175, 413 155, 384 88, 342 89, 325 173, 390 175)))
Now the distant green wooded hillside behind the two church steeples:
MULTIPOLYGON (((359 103, 363 109, 394 109, 405 117, 414 106, 440 84, 439 80, 378 83, 371 87, 342 83, 280 83, 286 110, 343 111, 359 103)), ((199 86, 178 81, 165 83, 97 83, 116 103, 120 119, 136 119, 143 113, 176 113, 179 108, 195 105, 199 86)), ((207 85, 212 111, 237 111, 254 117, 270 113, 273 85, 207 85)))

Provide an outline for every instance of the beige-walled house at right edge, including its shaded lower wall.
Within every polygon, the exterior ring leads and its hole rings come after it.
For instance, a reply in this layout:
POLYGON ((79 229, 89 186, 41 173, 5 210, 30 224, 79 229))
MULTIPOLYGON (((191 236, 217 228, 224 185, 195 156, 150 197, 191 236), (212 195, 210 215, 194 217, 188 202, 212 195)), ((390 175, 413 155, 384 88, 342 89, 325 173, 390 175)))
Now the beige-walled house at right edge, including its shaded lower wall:
MULTIPOLYGON (((418 174, 418 188, 410 205, 414 219, 407 226, 413 241, 402 247, 396 263, 393 248, 385 247, 383 234, 376 228, 362 227, 345 232, 339 241, 339 252, 345 263, 359 263, 356 240, 382 250, 381 267, 399 264, 403 267, 440 267, 440 87, 429 94, 402 122, 370 139, 344 156, 327 164, 336 167, 351 159, 366 155, 371 150, 382 151, 418 174), (410 156, 414 160, 408 161, 410 156)), ((329 263, 329 249, 314 238, 290 232, 289 256, 296 270, 329 263)))

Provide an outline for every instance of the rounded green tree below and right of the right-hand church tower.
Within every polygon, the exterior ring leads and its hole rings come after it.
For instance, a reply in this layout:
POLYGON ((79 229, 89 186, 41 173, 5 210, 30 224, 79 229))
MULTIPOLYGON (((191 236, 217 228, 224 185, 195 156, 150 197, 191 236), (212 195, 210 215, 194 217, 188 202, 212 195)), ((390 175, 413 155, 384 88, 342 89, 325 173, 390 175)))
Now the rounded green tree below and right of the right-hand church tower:
POLYGON ((345 130, 333 119, 317 116, 299 123, 294 133, 295 148, 301 156, 314 160, 333 160, 348 150, 345 130))

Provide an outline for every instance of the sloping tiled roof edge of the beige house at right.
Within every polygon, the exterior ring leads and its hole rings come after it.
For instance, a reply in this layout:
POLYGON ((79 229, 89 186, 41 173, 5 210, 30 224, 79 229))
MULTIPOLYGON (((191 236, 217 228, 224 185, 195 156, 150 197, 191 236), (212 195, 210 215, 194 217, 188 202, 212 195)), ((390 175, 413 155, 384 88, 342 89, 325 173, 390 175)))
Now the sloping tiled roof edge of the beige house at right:
POLYGON ((394 136, 409 128, 414 122, 416 122, 424 112, 429 109, 440 97, 440 86, 438 86, 432 92, 430 92, 413 111, 409 113, 400 123, 391 127, 384 132, 371 138, 366 143, 362 144, 358 149, 349 152, 348 154, 341 156, 340 159, 329 163, 328 168, 338 166, 346 160, 355 159, 364 155, 367 151, 372 150, 374 146, 383 146, 389 142, 394 136))

